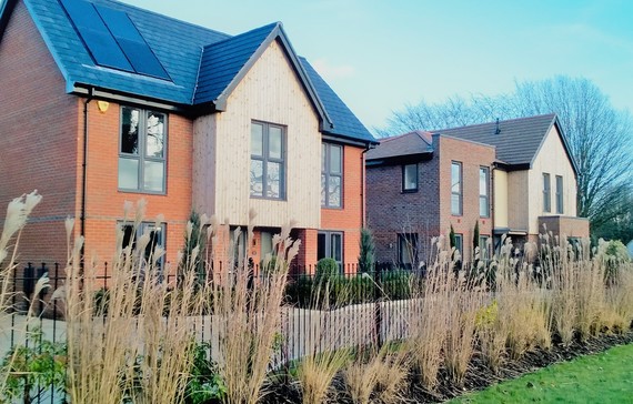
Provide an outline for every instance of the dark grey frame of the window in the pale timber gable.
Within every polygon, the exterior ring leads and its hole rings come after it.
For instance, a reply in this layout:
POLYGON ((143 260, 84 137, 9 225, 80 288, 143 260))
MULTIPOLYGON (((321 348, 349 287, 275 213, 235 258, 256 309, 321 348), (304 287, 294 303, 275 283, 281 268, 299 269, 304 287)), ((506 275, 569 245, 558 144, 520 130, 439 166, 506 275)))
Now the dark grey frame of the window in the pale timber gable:
POLYGON ((250 159, 249 159, 249 194, 252 199, 265 199, 271 201, 285 201, 287 198, 287 181, 285 181, 285 172, 287 172, 287 161, 288 161, 288 153, 287 153, 287 138, 288 138, 288 130, 285 125, 272 122, 264 122, 264 121, 251 121, 250 127, 250 134, 249 134, 249 150, 250 150, 250 159), (253 154, 253 143, 252 143, 252 130, 253 125, 258 124, 262 127, 262 154, 253 154), (281 159, 271 158, 270 156, 270 128, 278 128, 281 130, 281 159), (262 162, 262 194, 253 194, 252 183, 251 183, 251 174, 252 174, 252 163, 253 161, 261 161, 262 162), (279 173, 279 196, 269 196, 268 195, 268 163, 275 163, 280 164, 280 173, 279 173))

